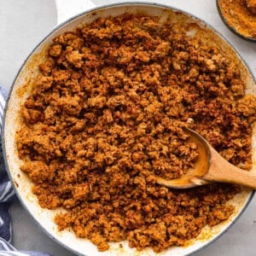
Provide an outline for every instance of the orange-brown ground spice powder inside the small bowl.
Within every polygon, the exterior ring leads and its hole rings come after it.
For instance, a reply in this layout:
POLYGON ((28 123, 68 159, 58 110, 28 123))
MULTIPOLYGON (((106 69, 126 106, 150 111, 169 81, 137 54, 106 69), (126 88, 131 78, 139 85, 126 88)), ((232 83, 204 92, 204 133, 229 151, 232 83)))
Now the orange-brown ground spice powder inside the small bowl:
POLYGON ((236 32, 256 39, 256 15, 247 8, 245 0, 220 0, 218 4, 224 19, 236 32))

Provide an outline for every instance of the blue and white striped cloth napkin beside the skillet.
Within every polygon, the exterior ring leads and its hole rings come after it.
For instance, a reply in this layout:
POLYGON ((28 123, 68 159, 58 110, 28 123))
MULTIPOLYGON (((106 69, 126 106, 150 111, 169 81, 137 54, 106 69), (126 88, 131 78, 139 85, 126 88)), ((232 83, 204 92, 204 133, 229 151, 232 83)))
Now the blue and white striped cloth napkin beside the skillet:
MULTIPOLYGON (((7 92, 0 87, 0 118, 3 117, 3 108, 7 92)), ((0 122, 2 131, 2 121, 0 122)), ((9 207, 16 200, 15 190, 12 187, 3 165, 2 143, 0 141, 0 256, 50 256, 49 253, 18 251, 11 245, 12 228, 9 207)))

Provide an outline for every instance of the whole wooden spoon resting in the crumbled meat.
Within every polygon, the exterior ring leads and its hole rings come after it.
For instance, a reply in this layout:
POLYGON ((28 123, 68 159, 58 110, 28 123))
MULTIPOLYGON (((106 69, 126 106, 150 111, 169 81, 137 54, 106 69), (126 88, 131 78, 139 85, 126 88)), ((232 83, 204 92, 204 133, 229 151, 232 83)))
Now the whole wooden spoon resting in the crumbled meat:
POLYGON ((256 189, 256 173, 231 165, 201 135, 190 129, 186 130, 189 133, 189 143, 196 143, 198 146, 199 157, 195 167, 177 179, 157 177, 157 183, 172 189, 189 189, 212 182, 236 183, 256 189))

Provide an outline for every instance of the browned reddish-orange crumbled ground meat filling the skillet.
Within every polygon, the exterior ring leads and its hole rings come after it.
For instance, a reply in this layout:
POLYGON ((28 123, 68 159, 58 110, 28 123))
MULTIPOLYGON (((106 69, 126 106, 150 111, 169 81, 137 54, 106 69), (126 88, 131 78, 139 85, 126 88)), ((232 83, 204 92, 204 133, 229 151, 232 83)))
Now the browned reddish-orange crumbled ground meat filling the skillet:
POLYGON ((99 251, 128 240, 138 251, 183 246, 230 217, 239 186, 167 189, 197 148, 189 126, 232 164, 252 166, 256 97, 216 47, 147 15, 98 18, 53 40, 21 108, 21 170, 60 230, 99 251))

